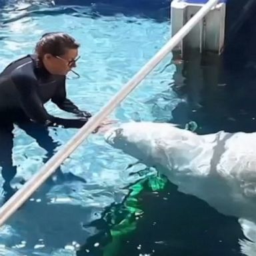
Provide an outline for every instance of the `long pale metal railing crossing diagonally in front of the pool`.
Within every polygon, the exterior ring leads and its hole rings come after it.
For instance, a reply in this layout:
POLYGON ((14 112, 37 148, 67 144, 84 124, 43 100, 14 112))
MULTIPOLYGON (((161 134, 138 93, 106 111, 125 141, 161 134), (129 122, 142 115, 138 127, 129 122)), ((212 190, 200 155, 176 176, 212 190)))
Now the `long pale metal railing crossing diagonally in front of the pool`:
POLYGON ((163 60, 195 25, 214 7, 219 0, 209 0, 197 13, 137 72, 131 80, 58 151, 43 167, 27 181, 0 208, 0 226, 23 205, 27 199, 49 178, 55 170, 75 151, 75 149, 101 124, 116 107, 145 79, 145 77, 163 60))

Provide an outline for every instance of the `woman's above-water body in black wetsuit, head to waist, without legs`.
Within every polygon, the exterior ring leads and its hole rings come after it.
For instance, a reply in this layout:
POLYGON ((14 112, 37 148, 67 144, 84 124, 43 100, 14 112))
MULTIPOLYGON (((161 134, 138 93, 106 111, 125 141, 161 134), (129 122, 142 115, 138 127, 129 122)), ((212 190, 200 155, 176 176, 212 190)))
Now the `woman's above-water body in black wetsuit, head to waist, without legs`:
POLYGON ((0 113, 46 126, 81 127, 91 114, 80 111, 66 97, 66 75, 76 66, 79 44, 64 33, 43 35, 35 55, 13 61, 0 74, 0 113), (47 113, 43 104, 53 101, 79 119, 62 119, 47 113))

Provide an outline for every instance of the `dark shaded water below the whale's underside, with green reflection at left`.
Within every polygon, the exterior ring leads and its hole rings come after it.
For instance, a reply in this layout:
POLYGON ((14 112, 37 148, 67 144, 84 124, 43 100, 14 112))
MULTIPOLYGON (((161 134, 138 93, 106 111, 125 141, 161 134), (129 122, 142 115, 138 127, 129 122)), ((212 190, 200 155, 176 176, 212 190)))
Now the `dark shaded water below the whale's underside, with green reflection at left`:
POLYGON ((140 217, 127 213, 118 220, 122 214, 117 210, 121 207, 113 205, 108 212, 115 215, 104 222, 112 232, 88 239, 77 256, 241 256, 238 241, 245 237, 237 219, 217 213, 196 197, 179 193, 171 183, 167 182, 163 190, 153 191, 145 179, 143 189, 133 196, 133 201, 143 211, 140 217), (122 222, 127 223, 126 227, 115 229, 113 223, 122 222), (101 246, 95 248, 96 242, 101 246))

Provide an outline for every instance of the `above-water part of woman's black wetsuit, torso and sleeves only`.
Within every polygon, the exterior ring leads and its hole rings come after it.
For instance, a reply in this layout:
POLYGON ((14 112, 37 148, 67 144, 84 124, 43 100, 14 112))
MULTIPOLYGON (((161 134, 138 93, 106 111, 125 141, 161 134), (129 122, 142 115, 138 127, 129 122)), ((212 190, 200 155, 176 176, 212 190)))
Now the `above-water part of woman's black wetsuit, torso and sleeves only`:
POLYGON ((79 110, 66 97, 65 76, 51 75, 40 67, 35 55, 27 55, 9 64, 0 74, 0 115, 5 119, 23 118, 46 126, 81 127, 91 114, 79 110), (55 103, 80 119, 49 115, 43 104, 55 103))

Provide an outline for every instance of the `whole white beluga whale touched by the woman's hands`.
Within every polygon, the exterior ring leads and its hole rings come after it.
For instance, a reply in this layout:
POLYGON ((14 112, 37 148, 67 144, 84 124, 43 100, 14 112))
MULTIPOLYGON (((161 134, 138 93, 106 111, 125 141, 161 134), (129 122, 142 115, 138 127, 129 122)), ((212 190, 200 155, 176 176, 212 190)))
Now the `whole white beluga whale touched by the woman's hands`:
POLYGON ((179 191, 237 217, 256 241, 256 133, 197 135, 171 123, 131 122, 107 131, 105 141, 155 167, 179 191))

